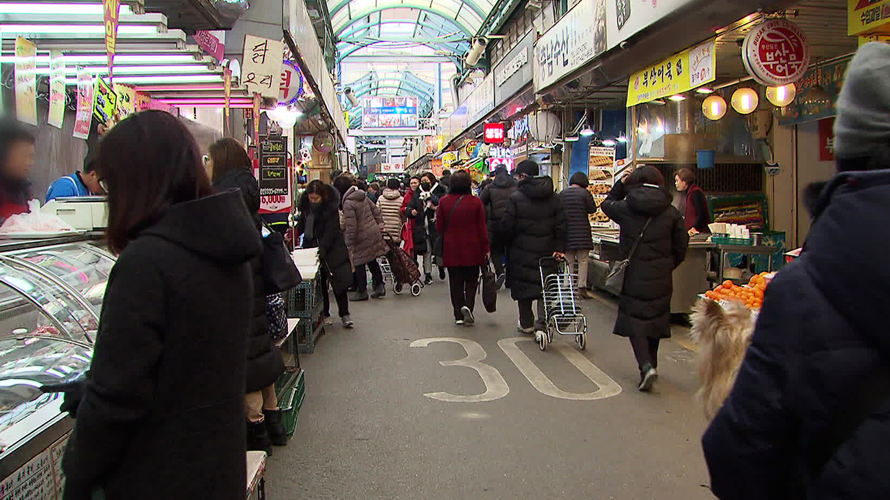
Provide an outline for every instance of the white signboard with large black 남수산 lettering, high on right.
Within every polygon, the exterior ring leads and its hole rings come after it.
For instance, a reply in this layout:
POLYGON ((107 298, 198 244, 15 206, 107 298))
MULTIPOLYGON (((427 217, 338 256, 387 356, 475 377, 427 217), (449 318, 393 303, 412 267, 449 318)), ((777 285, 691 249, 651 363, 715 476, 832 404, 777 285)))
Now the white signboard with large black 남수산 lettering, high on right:
POLYGON ((535 92, 606 50, 606 0, 581 0, 535 43, 535 92))

